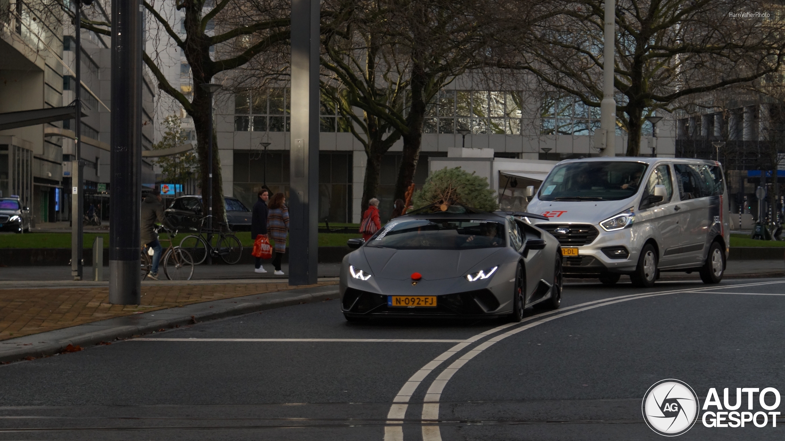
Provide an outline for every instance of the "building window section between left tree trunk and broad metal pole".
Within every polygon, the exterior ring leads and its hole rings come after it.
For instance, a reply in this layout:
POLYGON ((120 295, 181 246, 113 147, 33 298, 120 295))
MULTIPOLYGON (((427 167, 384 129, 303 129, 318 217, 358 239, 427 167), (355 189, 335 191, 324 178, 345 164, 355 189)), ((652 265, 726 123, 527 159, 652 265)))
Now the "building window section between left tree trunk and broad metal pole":
POLYGON ((236 132, 288 132, 289 89, 271 87, 235 95, 236 132))

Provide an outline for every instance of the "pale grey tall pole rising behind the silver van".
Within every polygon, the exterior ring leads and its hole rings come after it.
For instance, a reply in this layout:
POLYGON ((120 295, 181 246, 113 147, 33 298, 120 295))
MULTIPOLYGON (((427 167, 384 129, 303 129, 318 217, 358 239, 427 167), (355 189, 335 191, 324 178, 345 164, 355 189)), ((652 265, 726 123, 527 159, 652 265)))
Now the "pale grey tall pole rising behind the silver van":
POLYGON ((603 156, 616 155, 616 100, 613 97, 614 49, 616 32, 615 0, 605 0, 605 42, 603 63, 602 102, 600 104, 600 128, 605 133, 603 156))

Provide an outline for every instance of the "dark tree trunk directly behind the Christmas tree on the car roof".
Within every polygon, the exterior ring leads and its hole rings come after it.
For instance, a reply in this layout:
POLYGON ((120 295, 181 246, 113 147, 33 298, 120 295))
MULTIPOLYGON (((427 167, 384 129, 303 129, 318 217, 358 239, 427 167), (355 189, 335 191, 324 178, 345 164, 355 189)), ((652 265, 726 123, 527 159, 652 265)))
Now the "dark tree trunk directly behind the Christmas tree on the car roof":
POLYGON ((415 65, 411 75, 411 108, 406 118, 409 133, 403 135, 403 159, 398 170, 393 200, 406 199, 407 188, 414 180, 414 172, 420 159, 422 122, 425 117, 425 101, 422 99, 425 81, 425 71, 421 66, 415 65))

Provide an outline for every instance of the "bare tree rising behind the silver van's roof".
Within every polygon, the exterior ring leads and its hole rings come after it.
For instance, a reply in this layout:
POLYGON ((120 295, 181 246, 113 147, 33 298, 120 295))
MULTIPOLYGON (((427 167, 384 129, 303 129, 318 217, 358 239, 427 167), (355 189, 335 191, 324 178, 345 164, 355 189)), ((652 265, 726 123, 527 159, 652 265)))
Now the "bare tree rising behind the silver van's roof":
MULTIPOLYGON (((517 0, 521 8, 529 3, 517 0)), ((752 0, 620 0, 615 41, 616 118, 637 156, 645 116, 672 111, 693 94, 751 82, 782 65, 785 22, 752 0)), ((524 42, 514 17, 495 65, 531 71, 542 82, 599 108, 602 100, 604 2, 542 4, 524 42)), ((505 35, 500 33, 499 35, 505 35)))

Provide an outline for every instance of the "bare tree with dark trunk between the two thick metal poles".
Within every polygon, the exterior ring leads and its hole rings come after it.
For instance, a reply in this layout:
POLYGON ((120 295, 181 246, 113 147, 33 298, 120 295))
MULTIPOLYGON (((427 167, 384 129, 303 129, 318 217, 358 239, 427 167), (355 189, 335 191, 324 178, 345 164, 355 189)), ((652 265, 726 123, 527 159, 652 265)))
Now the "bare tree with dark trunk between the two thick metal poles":
MULTIPOLYGON (((257 56, 287 46, 290 36, 289 3, 283 0, 177 0, 175 8, 184 13, 184 38, 159 9, 165 2, 145 0, 144 8, 152 22, 184 54, 191 67, 192 92, 173 86, 156 62, 155 54, 144 53, 144 63, 159 88, 173 98, 193 118, 198 142, 199 177, 203 194, 207 192, 207 148, 210 144, 210 96, 199 87, 213 82, 218 75, 231 78, 231 71, 253 64, 257 56)), ((82 27, 111 35, 111 24, 82 18, 82 27)), ((278 52, 282 52, 280 49, 278 52)), ((213 132, 213 213, 225 217, 217 136, 213 132)))

